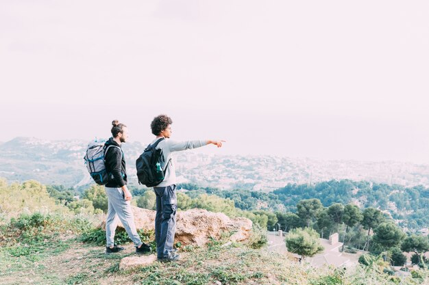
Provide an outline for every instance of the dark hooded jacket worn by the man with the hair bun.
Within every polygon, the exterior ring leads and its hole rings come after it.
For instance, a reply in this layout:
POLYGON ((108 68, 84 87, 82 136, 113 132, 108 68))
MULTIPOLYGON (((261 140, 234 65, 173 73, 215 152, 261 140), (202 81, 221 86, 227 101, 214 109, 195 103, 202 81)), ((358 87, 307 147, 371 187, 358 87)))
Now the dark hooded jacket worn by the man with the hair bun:
MULTIPOLYGON (((110 137, 106 144, 106 148, 110 145, 119 146, 119 144, 110 137)), ((109 148, 106 152, 106 170, 110 175, 109 182, 106 187, 119 188, 127 185, 127 169, 125 167, 125 157, 121 146, 119 148, 109 148)))

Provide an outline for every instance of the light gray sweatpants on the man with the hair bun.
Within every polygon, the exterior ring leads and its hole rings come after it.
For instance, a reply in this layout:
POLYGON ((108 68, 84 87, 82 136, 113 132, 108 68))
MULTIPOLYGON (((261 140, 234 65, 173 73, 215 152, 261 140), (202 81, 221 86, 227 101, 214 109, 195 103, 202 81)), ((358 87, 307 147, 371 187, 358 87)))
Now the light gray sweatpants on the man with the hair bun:
POLYGON ((137 234, 130 201, 125 201, 121 188, 106 187, 106 194, 109 201, 106 217, 106 246, 114 245, 114 231, 117 229, 118 220, 120 220, 134 245, 139 247, 142 241, 137 234))

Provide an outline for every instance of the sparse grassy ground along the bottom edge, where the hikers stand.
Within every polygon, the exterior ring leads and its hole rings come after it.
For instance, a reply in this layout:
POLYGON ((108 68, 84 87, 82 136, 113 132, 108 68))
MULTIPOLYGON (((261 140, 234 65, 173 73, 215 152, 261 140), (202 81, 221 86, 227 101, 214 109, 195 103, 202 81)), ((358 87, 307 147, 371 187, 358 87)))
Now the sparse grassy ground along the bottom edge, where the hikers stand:
MULTIPOLYGON (((336 270, 299 264, 280 254, 242 245, 188 249, 182 260, 120 271, 119 262, 134 255, 132 244, 119 254, 106 255, 104 247, 61 241, 37 252, 14 256, 0 251, 0 284, 399 284, 399 279, 363 267, 336 270), (219 283, 218 283, 219 284, 219 283)), ((423 284, 402 280, 400 284, 423 284)))

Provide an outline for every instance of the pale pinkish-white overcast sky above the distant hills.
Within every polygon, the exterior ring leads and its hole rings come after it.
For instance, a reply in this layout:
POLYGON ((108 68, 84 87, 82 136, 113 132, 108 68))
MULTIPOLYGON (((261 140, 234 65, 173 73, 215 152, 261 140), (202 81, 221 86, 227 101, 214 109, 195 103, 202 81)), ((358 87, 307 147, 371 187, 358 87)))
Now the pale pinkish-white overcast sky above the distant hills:
POLYGON ((0 1, 0 141, 429 163, 429 2, 0 1))

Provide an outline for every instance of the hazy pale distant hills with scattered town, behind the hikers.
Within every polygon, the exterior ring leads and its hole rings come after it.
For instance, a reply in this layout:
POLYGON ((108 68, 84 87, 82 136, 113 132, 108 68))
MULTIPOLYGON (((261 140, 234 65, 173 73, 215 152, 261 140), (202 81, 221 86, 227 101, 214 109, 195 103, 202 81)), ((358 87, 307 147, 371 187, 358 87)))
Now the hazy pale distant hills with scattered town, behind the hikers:
MULTIPOLYGON (((12 181, 36 179, 44 184, 79 187, 91 183, 84 165, 88 141, 16 137, 0 144, 0 177, 12 181)), ((146 144, 123 144, 130 184, 137 185, 135 161, 146 144)), ((221 189, 271 191, 287 183, 308 183, 332 179, 368 180, 415 186, 429 186, 429 165, 393 161, 323 161, 274 156, 220 156, 198 150, 177 152, 178 182, 194 182, 221 189)))

